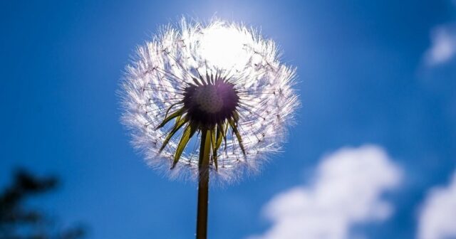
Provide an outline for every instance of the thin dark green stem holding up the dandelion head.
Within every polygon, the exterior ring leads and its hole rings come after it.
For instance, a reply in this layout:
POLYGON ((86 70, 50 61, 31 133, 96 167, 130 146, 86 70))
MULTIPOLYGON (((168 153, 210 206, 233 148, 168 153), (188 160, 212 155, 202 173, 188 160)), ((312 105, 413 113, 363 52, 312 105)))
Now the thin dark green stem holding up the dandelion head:
POLYGON ((197 239, 207 238, 207 203, 209 202, 210 149, 211 134, 209 133, 209 130, 203 129, 201 133, 201 145, 199 147, 197 239))

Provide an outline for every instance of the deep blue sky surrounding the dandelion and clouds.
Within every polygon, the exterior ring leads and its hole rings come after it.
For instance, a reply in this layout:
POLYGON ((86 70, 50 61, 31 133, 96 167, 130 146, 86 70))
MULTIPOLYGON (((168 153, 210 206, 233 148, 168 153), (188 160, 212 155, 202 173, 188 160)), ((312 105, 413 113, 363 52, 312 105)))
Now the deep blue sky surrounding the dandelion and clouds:
POLYGON ((90 238, 190 238, 195 184, 145 166, 115 94, 135 46, 182 15, 261 27, 299 75, 302 107, 284 153, 257 176, 212 188, 211 238, 263 234, 273 226, 264 216, 271 198, 318 181, 323 156, 365 144, 388 154, 402 177, 381 196, 390 216, 351 230, 417 236, 430 188, 450 184, 456 169, 449 0, 2 1, 1 185, 16 166, 61 175, 61 190, 37 203, 66 223, 87 223, 90 238))

